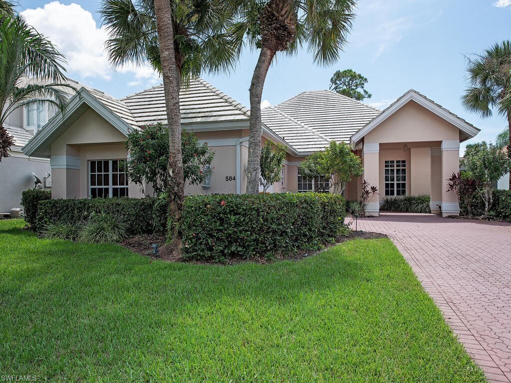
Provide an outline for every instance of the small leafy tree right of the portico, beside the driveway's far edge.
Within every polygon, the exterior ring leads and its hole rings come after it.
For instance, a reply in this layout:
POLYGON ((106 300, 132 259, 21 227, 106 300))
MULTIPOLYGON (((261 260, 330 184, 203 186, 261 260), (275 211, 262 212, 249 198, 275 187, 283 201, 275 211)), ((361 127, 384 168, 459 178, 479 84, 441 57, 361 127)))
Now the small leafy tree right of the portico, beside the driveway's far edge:
POLYGON ((495 183, 506 174, 509 162, 509 158, 492 143, 483 141, 467 145, 462 164, 478 184, 486 215, 492 206, 495 183))

